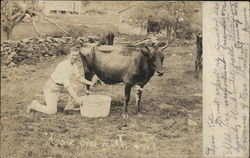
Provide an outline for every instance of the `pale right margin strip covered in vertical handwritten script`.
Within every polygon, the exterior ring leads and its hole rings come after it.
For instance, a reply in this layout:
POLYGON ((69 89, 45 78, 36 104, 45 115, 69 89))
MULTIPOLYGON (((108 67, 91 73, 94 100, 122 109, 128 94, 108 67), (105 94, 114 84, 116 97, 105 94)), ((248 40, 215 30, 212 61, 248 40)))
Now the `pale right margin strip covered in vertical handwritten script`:
POLYGON ((204 2, 204 157, 249 156, 249 2, 204 2))

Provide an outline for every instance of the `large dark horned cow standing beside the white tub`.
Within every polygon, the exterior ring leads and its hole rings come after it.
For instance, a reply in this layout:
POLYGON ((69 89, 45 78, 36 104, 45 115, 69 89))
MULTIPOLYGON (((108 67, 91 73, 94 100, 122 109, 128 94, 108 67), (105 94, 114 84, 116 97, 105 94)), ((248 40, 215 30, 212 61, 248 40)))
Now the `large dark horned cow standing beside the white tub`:
MULTIPOLYGON (((113 47, 103 51, 100 47, 82 47, 80 56, 86 66, 85 78, 91 80, 96 74, 105 84, 116 84, 123 82, 125 99, 123 106, 123 117, 128 118, 128 102, 130 91, 136 86, 136 113, 141 112, 141 96, 143 87, 149 82, 156 72, 158 76, 164 74, 162 51, 167 48, 153 45, 143 48, 137 47, 113 47)), ((89 87, 87 87, 87 90, 89 87)))

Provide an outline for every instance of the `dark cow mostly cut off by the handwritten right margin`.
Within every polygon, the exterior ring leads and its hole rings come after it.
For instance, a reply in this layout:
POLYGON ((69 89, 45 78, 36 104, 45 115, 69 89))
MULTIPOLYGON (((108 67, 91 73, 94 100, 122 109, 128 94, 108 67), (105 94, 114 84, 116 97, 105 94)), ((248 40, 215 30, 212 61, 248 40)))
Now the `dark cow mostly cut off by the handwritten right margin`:
POLYGON ((196 36, 196 59, 195 59, 195 75, 194 78, 199 78, 199 73, 202 70, 202 36, 199 33, 196 36))

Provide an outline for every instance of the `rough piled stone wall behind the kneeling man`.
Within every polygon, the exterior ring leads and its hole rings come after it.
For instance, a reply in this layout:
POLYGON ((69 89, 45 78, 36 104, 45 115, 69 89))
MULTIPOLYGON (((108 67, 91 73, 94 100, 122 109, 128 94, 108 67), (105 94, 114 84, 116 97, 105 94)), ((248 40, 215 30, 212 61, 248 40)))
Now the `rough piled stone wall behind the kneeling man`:
POLYGON ((70 46, 95 42, 95 37, 25 38, 1 44, 1 65, 35 64, 46 58, 67 54, 70 46))

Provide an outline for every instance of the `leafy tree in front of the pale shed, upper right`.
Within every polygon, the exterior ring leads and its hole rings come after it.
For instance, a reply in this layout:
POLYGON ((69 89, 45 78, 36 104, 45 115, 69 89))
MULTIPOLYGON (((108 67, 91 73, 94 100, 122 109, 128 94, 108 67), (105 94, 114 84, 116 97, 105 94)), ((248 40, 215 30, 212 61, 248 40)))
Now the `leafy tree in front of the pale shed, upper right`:
POLYGON ((194 8, 200 6, 197 2, 140 2, 130 14, 130 24, 145 27, 148 21, 157 21, 166 30, 167 38, 175 39, 178 33, 191 29, 194 8))

